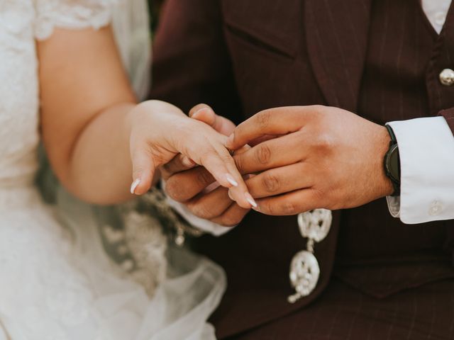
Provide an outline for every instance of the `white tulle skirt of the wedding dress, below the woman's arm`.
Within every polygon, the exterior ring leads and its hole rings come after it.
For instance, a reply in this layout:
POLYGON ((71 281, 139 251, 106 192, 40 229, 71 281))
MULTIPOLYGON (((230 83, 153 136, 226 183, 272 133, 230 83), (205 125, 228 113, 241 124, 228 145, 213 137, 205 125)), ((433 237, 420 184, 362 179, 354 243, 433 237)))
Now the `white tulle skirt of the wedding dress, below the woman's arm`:
POLYGON ((96 211, 68 197, 54 210, 34 188, 0 190, 9 202, 0 207, 0 320, 11 339, 215 339, 206 319, 225 288, 221 268, 170 248, 167 278, 150 297, 106 255, 96 211))

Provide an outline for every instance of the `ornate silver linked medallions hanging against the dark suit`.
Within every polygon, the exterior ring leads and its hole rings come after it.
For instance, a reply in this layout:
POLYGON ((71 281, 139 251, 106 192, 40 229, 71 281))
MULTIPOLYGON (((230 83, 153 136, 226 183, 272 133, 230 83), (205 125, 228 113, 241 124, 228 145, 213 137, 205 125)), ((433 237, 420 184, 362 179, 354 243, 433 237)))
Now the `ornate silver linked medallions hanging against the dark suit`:
POLYGON ((321 242, 328 235, 333 216, 331 210, 316 209, 298 215, 301 236, 307 238, 306 250, 293 256, 290 264, 290 283, 296 293, 288 297, 290 303, 312 293, 319 282, 320 266, 314 256, 314 243, 321 242))

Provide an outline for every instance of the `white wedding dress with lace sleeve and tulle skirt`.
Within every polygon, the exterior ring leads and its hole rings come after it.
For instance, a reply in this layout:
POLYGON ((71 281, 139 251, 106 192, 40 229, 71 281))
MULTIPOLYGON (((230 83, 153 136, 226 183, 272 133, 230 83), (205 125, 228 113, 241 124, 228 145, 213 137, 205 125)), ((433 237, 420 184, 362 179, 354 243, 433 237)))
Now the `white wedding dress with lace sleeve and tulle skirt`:
POLYGON ((221 268, 184 251, 168 264, 166 239, 153 218, 131 212, 124 230, 100 227, 88 205, 48 206, 34 185, 40 142, 35 39, 48 38, 55 26, 100 28, 114 16, 123 61, 135 89, 144 91, 148 61, 138 51, 148 37, 147 20, 137 30, 128 18, 141 13, 144 19, 144 4, 0 0, 1 340, 214 339, 206 319, 226 286, 221 268), (118 265, 106 244, 140 261, 126 256, 118 265))

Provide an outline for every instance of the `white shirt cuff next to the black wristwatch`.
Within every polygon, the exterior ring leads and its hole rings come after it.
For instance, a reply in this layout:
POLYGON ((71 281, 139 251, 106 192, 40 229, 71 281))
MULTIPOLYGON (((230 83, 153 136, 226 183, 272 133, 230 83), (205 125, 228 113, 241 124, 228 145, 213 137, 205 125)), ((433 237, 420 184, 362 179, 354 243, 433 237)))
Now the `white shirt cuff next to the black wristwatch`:
POLYGON ((443 117, 388 123, 401 164, 401 195, 389 212, 406 224, 454 219, 454 136, 443 117))

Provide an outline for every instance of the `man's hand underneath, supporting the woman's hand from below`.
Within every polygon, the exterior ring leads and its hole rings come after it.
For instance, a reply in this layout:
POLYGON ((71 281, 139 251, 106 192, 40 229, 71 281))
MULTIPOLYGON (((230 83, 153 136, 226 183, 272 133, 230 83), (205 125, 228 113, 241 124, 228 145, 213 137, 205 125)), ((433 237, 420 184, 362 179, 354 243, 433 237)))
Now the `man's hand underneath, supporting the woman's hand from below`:
MULTIPOLYGON (((230 135, 235 129, 230 120, 216 115, 204 104, 192 108, 189 116, 211 125, 223 135, 230 135)), ((217 187, 206 192, 209 186, 216 186, 213 176, 202 166, 194 168, 190 159, 181 155, 162 167, 162 178, 166 181, 167 195, 186 205, 197 217, 219 225, 233 226, 238 225, 249 211, 231 200, 226 188, 217 187)))

